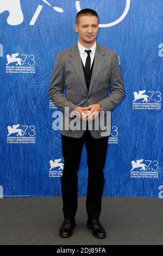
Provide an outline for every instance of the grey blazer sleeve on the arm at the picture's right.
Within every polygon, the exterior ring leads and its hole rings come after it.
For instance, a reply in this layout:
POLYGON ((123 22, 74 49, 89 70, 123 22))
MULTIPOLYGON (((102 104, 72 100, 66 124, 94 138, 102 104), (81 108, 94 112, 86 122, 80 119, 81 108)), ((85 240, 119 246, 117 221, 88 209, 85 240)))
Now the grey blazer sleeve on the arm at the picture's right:
POLYGON ((112 61, 109 90, 110 94, 97 102, 102 106, 103 111, 111 111, 125 96, 120 64, 118 62, 116 52, 114 52, 114 58, 112 61))

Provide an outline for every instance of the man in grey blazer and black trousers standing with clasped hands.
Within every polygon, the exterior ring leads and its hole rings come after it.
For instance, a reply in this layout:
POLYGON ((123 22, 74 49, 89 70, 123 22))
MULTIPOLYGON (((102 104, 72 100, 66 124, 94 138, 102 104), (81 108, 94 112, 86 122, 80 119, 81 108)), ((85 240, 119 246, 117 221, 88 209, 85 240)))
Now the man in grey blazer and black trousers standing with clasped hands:
POLYGON ((49 88, 49 97, 65 114, 64 121, 67 118, 68 121, 77 118, 81 124, 86 124, 85 129, 67 129, 64 126, 61 130, 64 157, 61 190, 65 218, 60 228, 61 237, 72 235, 76 225, 77 171, 84 142, 89 169, 86 196, 87 227, 92 229, 92 234, 97 238, 106 237, 99 222, 99 215, 105 181, 103 168, 111 130, 110 111, 121 102, 125 93, 117 54, 96 43, 98 24, 96 11, 79 11, 74 25, 78 33, 78 43, 58 53, 49 88), (101 124, 95 129, 95 121, 99 117, 101 124), (102 135, 104 127, 106 133, 102 135))

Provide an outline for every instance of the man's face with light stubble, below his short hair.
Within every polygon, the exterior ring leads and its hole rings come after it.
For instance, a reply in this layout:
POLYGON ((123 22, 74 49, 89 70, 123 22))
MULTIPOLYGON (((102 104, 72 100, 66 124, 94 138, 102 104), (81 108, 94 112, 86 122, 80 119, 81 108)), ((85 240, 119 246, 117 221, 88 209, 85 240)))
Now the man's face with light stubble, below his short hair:
POLYGON ((81 16, 78 25, 74 25, 74 29, 78 33, 81 43, 91 43, 96 40, 98 33, 98 18, 96 16, 81 16))

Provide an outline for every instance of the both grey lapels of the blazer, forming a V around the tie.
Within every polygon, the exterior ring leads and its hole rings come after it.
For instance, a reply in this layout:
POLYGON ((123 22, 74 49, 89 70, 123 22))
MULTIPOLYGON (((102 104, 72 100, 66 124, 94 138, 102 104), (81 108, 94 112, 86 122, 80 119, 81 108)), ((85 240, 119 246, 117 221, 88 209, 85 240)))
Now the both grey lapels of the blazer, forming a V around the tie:
MULTIPOLYGON (((96 82, 97 76, 99 74, 99 71, 101 70, 102 65, 104 63, 104 60, 105 60, 105 58, 103 57, 104 55, 105 55, 105 53, 101 50, 101 47, 96 42, 95 60, 94 60, 94 65, 93 65, 89 93, 90 93, 91 89, 93 88, 93 86, 96 82)), ((76 71, 76 74, 77 74, 79 81, 81 82, 85 92, 87 93, 85 76, 84 76, 84 72, 83 72, 83 66, 82 66, 82 61, 80 58, 78 44, 74 45, 74 47, 70 53, 70 56, 71 56, 70 60, 73 65, 73 68, 76 71)))

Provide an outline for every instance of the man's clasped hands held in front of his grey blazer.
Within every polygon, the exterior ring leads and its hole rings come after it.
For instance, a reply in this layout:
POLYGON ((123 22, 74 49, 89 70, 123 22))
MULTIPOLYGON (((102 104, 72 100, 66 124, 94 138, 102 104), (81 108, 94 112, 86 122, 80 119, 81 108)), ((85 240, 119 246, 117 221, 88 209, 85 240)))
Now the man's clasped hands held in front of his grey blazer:
POLYGON ((98 116, 100 111, 101 105, 99 103, 96 103, 91 104, 87 107, 76 107, 74 109, 74 114, 76 114, 77 117, 85 121, 93 121, 98 116))

